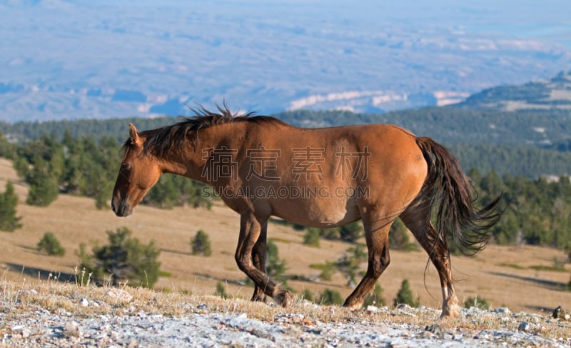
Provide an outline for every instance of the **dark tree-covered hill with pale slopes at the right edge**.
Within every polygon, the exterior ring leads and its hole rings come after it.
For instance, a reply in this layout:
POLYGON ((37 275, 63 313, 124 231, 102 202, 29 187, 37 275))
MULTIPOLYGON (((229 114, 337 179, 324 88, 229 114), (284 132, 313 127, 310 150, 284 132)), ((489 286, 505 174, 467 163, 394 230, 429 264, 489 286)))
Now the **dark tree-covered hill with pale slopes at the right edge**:
POLYGON ((548 80, 484 89, 455 106, 503 111, 571 109, 571 70, 548 80))

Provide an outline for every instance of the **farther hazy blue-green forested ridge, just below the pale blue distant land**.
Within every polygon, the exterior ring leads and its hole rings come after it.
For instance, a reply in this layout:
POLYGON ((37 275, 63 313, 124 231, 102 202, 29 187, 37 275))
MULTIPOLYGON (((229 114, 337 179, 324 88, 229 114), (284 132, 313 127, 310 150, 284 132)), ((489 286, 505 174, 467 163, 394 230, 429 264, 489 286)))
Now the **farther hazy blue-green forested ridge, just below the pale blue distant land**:
MULTIPOLYGON (((232 106, 232 105, 231 105, 232 106)), ((248 110, 256 111, 256 110, 248 110)), ((295 110, 273 114, 294 126, 322 127, 348 124, 385 123, 403 126, 418 136, 430 136, 443 144, 505 144, 510 146, 550 146, 571 139, 571 109, 542 109, 501 111, 446 106, 390 111, 384 114, 361 114, 351 111, 295 110)), ((122 141, 128 134, 128 124, 138 129, 154 129, 180 121, 176 116, 153 119, 79 119, 74 121, 0 121, 0 130, 11 142, 24 144, 44 134, 59 134, 64 130, 78 138, 113 136, 122 141)), ((61 139, 58 139, 61 140, 61 139)))

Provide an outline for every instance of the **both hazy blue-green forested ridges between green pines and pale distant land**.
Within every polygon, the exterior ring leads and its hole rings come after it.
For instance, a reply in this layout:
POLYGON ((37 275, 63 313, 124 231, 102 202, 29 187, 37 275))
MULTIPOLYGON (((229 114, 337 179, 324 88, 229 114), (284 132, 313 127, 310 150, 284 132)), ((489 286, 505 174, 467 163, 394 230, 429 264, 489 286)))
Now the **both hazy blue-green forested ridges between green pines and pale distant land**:
MULTIPOLYGON (((464 168, 477 168, 482 172, 494 169, 500 175, 532 178, 571 175, 571 110, 497 111, 430 107, 385 114, 298 110, 273 116, 295 126, 306 127, 397 124, 450 147, 464 168)), ((0 121, 0 129, 6 139, 21 146, 44 134, 58 134, 55 141, 63 141, 69 134, 73 139, 91 137, 96 142, 112 138, 121 144, 128 134, 129 122, 136 124, 138 129, 155 129, 176 121, 179 119, 169 116, 15 124, 0 121)))

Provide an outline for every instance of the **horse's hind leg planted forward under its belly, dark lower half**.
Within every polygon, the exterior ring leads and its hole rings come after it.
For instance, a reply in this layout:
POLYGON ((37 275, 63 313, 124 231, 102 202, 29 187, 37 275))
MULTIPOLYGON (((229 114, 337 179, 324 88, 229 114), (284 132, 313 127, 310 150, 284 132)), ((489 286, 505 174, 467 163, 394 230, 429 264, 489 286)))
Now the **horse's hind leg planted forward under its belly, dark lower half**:
POLYGON ((363 219, 363 227, 365 227, 365 240, 368 248, 368 267, 365 277, 353 293, 345 300, 343 307, 359 308, 363 306, 365 297, 368 296, 375 288, 375 282, 383 274, 383 271, 390 264, 390 254, 388 251, 388 232, 390 224, 380 229, 370 229, 370 224, 363 219))

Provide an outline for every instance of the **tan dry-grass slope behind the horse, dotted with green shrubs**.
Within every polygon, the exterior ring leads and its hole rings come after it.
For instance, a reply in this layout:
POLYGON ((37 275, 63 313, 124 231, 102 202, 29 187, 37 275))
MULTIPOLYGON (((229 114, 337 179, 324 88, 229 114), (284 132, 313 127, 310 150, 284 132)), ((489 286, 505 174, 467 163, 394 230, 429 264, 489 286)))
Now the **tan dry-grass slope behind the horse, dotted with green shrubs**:
MULTIPOLYGON (((0 159, 0 190, 4 188, 6 179, 15 184, 21 202, 18 214, 23 217, 21 229, 12 233, 0 233, 0 243, 3 246, 0 265, 6 269, 6 281, 21 284, 22 279, 27 279, 29 284, 40 278, 45 282, 49 272, 59 279, 69 279, 66 277, 74 274, 74 267, 79 262, 74 251, 80 243, 92 240, 104 243, 107 230, 114 231, 126 226, 141 242, 154 239, 162 251, 159 257, 161 269, 169 272, 171 277, 159 279, 156 289, 163 289, 163 293, 158 294, 173 299, 183 296, 184 292, 195 294, 193 296, 207 296, 214 294, 217 282, 223 282, 232 297, 251 297, 252 289, 241 285, 246 276, 238 270, 233 259, 238 240, 238 215, 223 204, 215 204, 210 211, 137 207, 135 214, 124 219, 115 217, 109 211, 96 210, 93 200, 84 197, 61 195, 48 208, 23 204, 26 185, 19 182, 11 163, 0 159), (191 255, 189 242, 198 229, 208 233, 212 257, 191 255), (56 235, 66 249, 65 257, 49 257, 36 252, 36 244, 45 232, 56 235)), ((320 271, 310 268, 310 264, 334 261, 343 254, 343 250, 350 247, 342 242, 325 240, 321 241, 319 248, 307 247, 302 243, 302 233, 279 224, 271 224, 268 234, 276 240, 280 257, 286 261, 286 273, 302 277, 319 274, 320 271)), ((463 302, 468 297, 477 295, 485 298, 492 307, 505 306, 513 312, 549 311, 558 305, 569 311, 571 292, 562 291, 562 287, 570 280, 570 265, 567 264, 563 272, 550 269, 554 259, 565 257, 564 253, 555 249, 495 245, 490 245, 474 259, 454 257, 458 297, 463 302)), ((391 252, 391 259, 390 267, 380 278, 384 289, 383 297, 392 302, 402 280, 408 279, 415 297, 420 297, 421 304, 440 308, 440 282, 435 269, 430 266, 424 274, 427 255, 424 252, 391 252)), ((363 269, 364 267, 365 265, 363 269)), ((317 294, 329 288, 344 297, 352 291, 346 283, 340 274, 335 274, 329 282, 289 281, 298 293, 310 289, 317 294)), ((98 292, 97 289, 89 291, 94 294, 98 292)), ((136 289, 130 291, 144 292, 136 289)), ((246 303, 248 302, 244 305, 246 303)), ((65 306, 65 303, 61 305, 65 306)), ((268 307, 267 310, 273 310, 271 308, 273 307, 268 307)))

